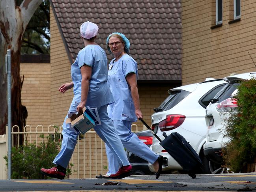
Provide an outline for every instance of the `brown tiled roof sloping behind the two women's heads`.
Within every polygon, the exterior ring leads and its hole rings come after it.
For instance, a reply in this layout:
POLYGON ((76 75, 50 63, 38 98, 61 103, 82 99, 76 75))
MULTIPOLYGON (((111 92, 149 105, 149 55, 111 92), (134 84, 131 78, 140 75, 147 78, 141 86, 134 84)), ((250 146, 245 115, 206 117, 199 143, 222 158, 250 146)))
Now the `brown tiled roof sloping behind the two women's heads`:
POLYGON ((99 26, 96 43, 109 54, 106 39, 121 32, 131 42, 138 80, 181 80, 180 0, 51 0, 71 61, 83 48, 80 25, 99 26))

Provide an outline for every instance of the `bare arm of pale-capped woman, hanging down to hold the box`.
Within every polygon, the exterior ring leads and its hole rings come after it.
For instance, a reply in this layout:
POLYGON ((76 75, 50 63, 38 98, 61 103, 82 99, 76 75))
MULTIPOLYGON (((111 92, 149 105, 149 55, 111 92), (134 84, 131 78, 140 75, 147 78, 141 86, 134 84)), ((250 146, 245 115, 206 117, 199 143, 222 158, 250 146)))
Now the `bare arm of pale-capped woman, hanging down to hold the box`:
POLYGON ((89 91, 89 85, 90 85, 90 79, 92 76, 92 67, 88 65, 83 65, 81 68, 81 75, 82 75, 82 82, 81 82, 81 101, 80 104, 77 106, 77 111, 80 111, 82 113, 82 108, 84 108, 86 101, 87 101, 87 96, 88 96, 88 91, 89 91))

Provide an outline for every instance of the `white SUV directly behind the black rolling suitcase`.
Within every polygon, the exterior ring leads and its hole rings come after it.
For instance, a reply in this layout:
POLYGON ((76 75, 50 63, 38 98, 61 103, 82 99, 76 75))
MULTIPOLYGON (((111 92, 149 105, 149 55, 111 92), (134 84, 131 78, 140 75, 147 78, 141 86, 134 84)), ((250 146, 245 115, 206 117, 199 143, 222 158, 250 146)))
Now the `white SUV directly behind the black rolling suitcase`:
MULTIPOLYGON (((170 89, 169 97, 159 108, 154 109, 156 113, 151 116, 151 127, 161 140, 164 139, 163 132, 166 132, 167 135, 178 132, 191 144, 202 159, 204 173, 209 173, 209 161, 203 153, 203 144, 206 142, 207 134, 205 109, 211 99, 225 85, 226 82, 222 79, 207 78, 201 83, 170 89)), ((159 145, 159 141, 155 137, 151 149, 164 157, 163 171, 183 170, 159 145)), ((149 164, 149 169, 153 171, 151 164, 149 164)))

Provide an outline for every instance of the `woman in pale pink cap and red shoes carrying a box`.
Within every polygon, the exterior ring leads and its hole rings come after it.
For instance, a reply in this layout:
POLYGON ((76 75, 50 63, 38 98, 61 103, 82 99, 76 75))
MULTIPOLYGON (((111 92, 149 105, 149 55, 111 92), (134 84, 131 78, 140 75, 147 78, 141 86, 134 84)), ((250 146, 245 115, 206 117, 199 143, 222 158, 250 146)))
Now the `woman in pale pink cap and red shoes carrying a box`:
MULTIPOLYGON (((94 130, 105 142, 120 163, 120 169, 113 172, 110 177, 123 178, 131 172, 131 165, 127 159, 121 140, 114 130, 112 120, 108 117, 107 106, 114 103, 114 98, 107 84, 107 55, 105 51, 95 43, 98 26, 92 22, 84 22, 80 27, 80 35, 84 41, 84 48, 78 52, 75 63, 71 66, 72 82, 60 86, 59 91, 65 93, 73 88, 73 101, 68 113, 80 111, 84 106, 97 107, 101 125, 96 125, 94 130)), ((55 167, 41 169, 41 173, 49 177, 64 179, 69 160, 77 144, 80 132, 71 128, 70 123, 63 123, 62 147, 55 157, 55 167)))

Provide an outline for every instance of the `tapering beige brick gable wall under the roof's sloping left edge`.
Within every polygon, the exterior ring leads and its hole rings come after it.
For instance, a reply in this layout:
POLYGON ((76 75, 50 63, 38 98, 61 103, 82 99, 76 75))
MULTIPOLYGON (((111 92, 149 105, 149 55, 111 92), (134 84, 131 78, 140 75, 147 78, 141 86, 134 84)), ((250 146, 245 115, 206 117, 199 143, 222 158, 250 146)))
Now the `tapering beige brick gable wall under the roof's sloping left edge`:
POLYGON ((71 64, 65 50, 60 31, 58 29, 54 14, 50 8, 50 112, 51 123, 62 125, 63 120, 73 99, 73 89, 64 94, 58 91, 58 88, 67 82, 71 82, 71 64))

